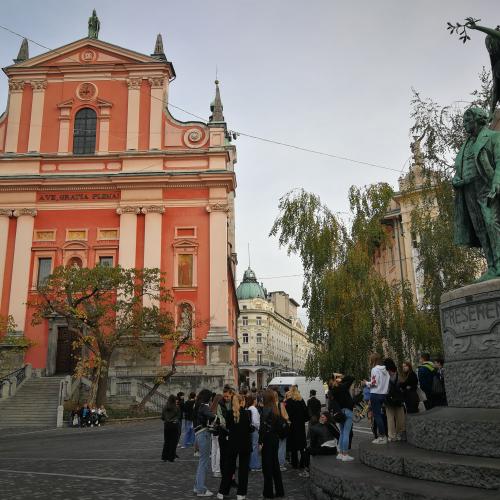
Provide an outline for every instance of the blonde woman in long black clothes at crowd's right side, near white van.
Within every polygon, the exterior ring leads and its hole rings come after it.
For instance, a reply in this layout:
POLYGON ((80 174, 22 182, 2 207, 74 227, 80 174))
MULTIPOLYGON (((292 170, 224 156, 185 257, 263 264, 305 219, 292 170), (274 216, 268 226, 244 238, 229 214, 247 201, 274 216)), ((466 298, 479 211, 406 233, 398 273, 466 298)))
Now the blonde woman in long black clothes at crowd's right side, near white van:
POLYGON ((306 422, 309 420, 307 406, 296 386, 292 386, 286 400, 286 412, 290 418, 288 447, 292 455, 292 467, 303 469, 307 465, 306 422), (298 453, 300 452, 300 463, 298 453))

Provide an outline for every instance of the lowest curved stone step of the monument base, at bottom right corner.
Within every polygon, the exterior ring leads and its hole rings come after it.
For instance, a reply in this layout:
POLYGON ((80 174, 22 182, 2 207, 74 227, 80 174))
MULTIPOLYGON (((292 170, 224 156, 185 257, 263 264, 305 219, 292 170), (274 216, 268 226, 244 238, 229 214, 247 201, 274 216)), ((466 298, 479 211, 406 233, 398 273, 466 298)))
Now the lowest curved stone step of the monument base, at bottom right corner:
POLYGON ((498 491, 402 477, 334 456, 312 457, 310 473, 309 500, 498 500, 498 491))

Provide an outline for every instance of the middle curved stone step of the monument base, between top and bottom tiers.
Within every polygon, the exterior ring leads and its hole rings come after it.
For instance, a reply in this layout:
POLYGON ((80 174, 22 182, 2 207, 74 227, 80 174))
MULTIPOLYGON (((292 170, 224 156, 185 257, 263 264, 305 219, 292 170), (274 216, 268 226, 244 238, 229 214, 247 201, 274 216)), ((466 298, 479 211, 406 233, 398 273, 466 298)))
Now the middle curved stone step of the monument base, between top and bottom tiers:
POLYGON ((426 481, 497 490, 500 498, 500 460, 441 453, 407 443, 361 443, 359 459, 378 470, 426 481))

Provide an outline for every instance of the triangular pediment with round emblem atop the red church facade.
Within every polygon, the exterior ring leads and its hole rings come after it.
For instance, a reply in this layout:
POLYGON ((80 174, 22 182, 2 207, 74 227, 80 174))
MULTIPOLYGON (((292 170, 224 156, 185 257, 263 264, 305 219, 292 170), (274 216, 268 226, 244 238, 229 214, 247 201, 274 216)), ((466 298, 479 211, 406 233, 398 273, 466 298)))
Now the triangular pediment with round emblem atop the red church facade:
POLYGON ((38 66, 74 66, 102 64, 158 63, 154 57, 113 45, 112 43, 83 38, 57 49, 32 57, 8 68, 38 66))

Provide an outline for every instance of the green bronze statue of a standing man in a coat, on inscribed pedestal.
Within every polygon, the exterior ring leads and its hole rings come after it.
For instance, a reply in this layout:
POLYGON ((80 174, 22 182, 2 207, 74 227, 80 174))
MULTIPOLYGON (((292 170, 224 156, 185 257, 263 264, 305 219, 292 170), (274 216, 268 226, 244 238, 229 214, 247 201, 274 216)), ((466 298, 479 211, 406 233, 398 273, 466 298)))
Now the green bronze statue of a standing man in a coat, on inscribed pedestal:
POLYGON ((500 276, 500 132, 488 128, 488 113, 469 108, 468 134, 455 160, 455 243, 481 247, 488 263, 478 281, 500 276))

